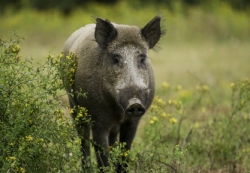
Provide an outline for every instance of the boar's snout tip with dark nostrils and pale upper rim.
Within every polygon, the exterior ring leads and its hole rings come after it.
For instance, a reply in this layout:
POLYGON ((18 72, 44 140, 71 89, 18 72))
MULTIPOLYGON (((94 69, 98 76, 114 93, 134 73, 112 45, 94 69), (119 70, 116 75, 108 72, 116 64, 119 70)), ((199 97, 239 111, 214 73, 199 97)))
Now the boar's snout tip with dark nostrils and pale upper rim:
POLYGON ((128 107, 125 110, 127 116, 140 117, 145 113, 146 109, 137 98, 129 100, 128 107))

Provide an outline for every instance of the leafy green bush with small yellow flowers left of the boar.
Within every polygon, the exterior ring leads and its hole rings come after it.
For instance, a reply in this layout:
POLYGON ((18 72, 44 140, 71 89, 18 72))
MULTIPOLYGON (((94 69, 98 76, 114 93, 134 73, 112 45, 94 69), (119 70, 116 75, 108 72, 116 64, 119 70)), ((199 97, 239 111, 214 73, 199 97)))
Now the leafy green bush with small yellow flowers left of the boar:
POLYGON ((79 139, 58 96, 59 61, 21 60, 20 40, 0 37, 0 172, 77 172, 79 139))

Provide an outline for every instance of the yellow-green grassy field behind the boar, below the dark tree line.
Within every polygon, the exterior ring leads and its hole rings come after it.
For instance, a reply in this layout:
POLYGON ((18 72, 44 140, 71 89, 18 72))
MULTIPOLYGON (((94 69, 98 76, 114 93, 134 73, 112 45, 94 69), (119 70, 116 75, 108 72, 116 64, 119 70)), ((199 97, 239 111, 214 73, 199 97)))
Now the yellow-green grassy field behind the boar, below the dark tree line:
MULTIPOLYGON (((8 37, 10 32, 15 31, 25 37, 25 41, 21 42, 23 59, 33 57, 35 61, 45 62, 48 54, 60 54, 64 42, 72 32, 85 24, 93 23, 95 17, 143 27, 158 14, 163 16, 163 27, 167 30, 159 48, 150 52, 159 99, 156 99, 154 107, 144 117, 135 145, 146 140, 147 126, 150 122, 156 122, 156 115, 165 112, 173 116, 168 118, 166 127, 164 123, 163 126, 156 127, 155 134, 165 133, 162 134, 161 141, 165 141, 170 148, 176 144, 188 148, 185 144, 187 137, 191 130, 194 131, 189 147, 191 154, 187 152, 181 166, 177 164, 181 156, 174 157, 171 162, 179 172, 249 172, 250 131, 245 127, 249 126, 249 107, 247 105, 246 109, 241 109, 235 104, 237 108, 234 109, 232 100, 243 100, 249 104, 247 101, 250 99, 248 96, 245 100, 238 96, 240 90, 236 90, 235 97, 231 98, 232 83, 239 82, 239 86, 243 87, 240 82, 250 78, 249 13, 233 11, 225 4, 207 9, 185 9, 177 3, 170 11, 162 5, 132 7, 125 1, 113 6, 92 4, 84 9, 76 9, 67 17, 57 11, 23 9, 13 12, 9 9, 0 16, 0 35, 8 37), (173 100, 176 101, 171 102, 173 100), (161 101, 164 104, 161 105, 161 101), (181 101, 181 108, 178 107, 178 101, 181 101), (155 106, 159 109, 154 110, 155 106), (238 124, 230 124, 225 117, 231 115, 233 110, 237 110, 248 124, 237 118, 235 123, 238 124), (238 130, 234 133, 227 127, 238 130), (221 133, 225 131, 228 131, 229 137, 221 133), (233 136, 240 134, 248 134, 248 137, 241 137, 246 140, 239 144, 235 142, 239 139, 233 136), (220 136, 219 142, 212 139, 217 138, 216 135, 220 136), (233 147, 226 147, 227 145, 233 147), (231 151, 235 146, 239 150, 231 151), (200 150, 195 151, 192 147, 200 150), (243 149, 244 152, 241 152, 243 149)), ((158 140, 153 137, 147 139, 158 140)))

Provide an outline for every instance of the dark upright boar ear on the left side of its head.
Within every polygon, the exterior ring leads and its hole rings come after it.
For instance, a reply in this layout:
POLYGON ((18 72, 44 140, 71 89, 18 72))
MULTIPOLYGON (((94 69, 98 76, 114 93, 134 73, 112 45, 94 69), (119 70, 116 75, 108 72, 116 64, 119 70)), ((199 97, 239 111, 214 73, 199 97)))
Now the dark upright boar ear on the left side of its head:
POLYGON ((98 45, 105 49, 117 36, 117 31, 108 20, 96 18, 95 39, 98 45))

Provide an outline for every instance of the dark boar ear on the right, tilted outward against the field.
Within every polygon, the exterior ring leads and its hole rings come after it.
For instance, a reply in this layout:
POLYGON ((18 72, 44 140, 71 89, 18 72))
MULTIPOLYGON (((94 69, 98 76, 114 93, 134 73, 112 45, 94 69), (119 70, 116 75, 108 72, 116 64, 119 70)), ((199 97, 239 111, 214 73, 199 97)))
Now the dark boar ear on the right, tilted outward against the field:
POLYGON ((161 17, 156 16, 144 28, 141 33, 144 39, 148 42, 149 48, 153 48, 163 34, 160 26, 161 17))

